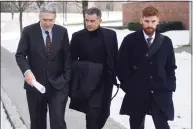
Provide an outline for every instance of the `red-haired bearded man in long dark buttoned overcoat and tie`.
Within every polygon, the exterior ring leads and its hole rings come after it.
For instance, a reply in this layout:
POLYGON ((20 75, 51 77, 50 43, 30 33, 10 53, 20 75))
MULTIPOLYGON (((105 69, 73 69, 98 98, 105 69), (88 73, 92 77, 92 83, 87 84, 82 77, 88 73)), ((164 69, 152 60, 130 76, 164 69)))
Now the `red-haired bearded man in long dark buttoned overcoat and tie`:
POLYGON ((128 34, 118 53, 116 73, 126 93, 120 114, 130 116, 130 129, 144 129, 146 114, 156 129, 169 129, 174 119, 177 66, 171 39, 156 29, 158 16, 155 7, 144 8, 142 29, 128 34))

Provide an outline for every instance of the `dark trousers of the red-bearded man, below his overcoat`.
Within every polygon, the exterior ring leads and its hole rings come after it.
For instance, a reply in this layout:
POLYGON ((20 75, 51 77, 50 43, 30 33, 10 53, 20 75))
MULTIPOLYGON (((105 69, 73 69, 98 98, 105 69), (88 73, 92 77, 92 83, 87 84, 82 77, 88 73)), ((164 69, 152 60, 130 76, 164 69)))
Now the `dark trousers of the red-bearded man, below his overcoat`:
MULTIPOLYGON (((153 96, 151 96, 150 111, 151 111, 151 115, 156 129, 170 129, 166 116, 159 108, 153 96)), ((145 115, 146 113, 131 115, 130 129, 144 129, 145 115)))

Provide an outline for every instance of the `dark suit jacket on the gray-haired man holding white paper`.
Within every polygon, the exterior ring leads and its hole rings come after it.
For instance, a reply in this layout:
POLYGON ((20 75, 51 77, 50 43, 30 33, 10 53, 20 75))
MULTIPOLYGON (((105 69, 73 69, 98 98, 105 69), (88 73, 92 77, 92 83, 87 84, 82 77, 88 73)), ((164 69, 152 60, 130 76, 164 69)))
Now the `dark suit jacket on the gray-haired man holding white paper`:
MULTIPOLYGON (((52 28, 51 54, 48 57, 40 23, 24 27, 15 57, 23 74, 30 69, 36 80, 45 86, 49 82, 51 86, 60 90, 69 83, 69 39, 66 28, 62 26, 54 25, 52 28)), ((24 88, 33 89, 26 82, 24 88)))

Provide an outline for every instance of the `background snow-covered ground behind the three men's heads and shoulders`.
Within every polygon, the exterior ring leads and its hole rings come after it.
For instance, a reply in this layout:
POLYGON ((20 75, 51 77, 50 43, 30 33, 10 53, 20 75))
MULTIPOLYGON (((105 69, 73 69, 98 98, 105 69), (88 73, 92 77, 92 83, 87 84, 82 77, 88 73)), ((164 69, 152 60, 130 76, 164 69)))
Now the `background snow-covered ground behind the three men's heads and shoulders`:
MULTIPOLYGON (((116 25, 116 24, 120 24, 120 23, 119 22, 106 23, 106 25, 116 25)), ((82 25, 74 25, 74 26, 67 26, 66 28, 68 30, 69 39, 71 39, 72 34, 80 29, 83 29, 83 26, 82 25)), ((113 30, 115 30, 115 29, 113 29, 113 30)), ((119 47, 121 45, 123 38, 127 34, 134 32, 134 31, 130 31, 128 29, 115 30, 115 31, 117 33, 117 37, 118 37, 117 39, 118 39, 119 47)), ((20 38, 20 33, 18 33, 18 32, 19 32, 18 24, 14 25, 14 26, 12 26, 11 24, 4 25, 4 27, 1 31, 1 41, 2 41, 1 45, 3 47, 7 48, 9 51, 15 52, 17 45, 18 45, 18 42, 19 42, 19 38, 20 38)), ((171 38, 174 48, 189 44, 189 30, 168 31, 168 32, 165 32, 163 34, 166 36, 169 36, 171 38)))

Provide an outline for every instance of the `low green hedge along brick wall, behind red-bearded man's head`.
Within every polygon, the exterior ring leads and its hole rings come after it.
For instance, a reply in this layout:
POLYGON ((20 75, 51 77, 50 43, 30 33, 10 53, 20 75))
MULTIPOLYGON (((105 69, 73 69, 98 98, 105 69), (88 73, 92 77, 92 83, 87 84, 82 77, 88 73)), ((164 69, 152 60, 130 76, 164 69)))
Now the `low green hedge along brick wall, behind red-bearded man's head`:
MULTIPOLYGON (((128 23, 128 29, 132 31, 136 31, 141 29, 141 24, 139 22, 130 22, 128 23)), ((160 22, 158 24, 157 29, 160 33, 170 31, 170 30, 184 30, 185 27, 180 21, 169 21, 169 22, 160 22)))

